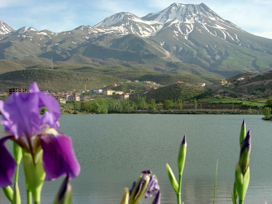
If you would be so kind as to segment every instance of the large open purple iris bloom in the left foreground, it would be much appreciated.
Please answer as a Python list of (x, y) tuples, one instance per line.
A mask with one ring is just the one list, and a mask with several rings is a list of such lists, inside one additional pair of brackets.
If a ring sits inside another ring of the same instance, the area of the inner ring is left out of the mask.
[[(40, 116), (40, 108), (43, 107), (47, 107), (49, 112)], [(57, 132), (60, 126), (60, 106), (53, 96), (40, 92), (37, 84), (33, 83), (29, 93), (16, 92), (5, 102), (0, 101), (0, 111), (1, 124), (7, 133), (0, 138), (0, 187), (11, 185), (16, 167), (5, 147), (7, 139), (15, 141), (23, 151), (30, 152), (33, 158), (40, 147), (43, 149), (45, 180), (54, 180), (63, 174), (72, 178), (79, 175), (80, 166), (71, 139)], [(46, 131), (49, 128), (54, 131)]]

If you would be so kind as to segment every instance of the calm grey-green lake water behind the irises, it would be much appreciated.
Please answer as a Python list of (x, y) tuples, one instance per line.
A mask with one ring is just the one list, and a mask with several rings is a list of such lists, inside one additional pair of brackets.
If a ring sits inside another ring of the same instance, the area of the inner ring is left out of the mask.
[[(245, 203), (272, 203), (272, 121), (261, 115), (62, 115), (60, 131), (71, 136), (81, 165), (72, 181), (73, 203), (120, 203), (141, 170), (157, 175), (162, 203), (176, 203), (165, 164), (176, 176), (183, 134), (187, 154), (182, 181), (184, 203), (212, 203), (216, 160), (219, 158), (216, 203), (232, 203), (230, 191), (239, 157), (243, 118), (252, 131), (250, 183)], [(8, 142), (7, 146), (11, 146)], [(45, 182), (42, 203), (52, 203), (62, 179)], [(24, 175), (20, 189), (25, 200)], [(151, 203), (143, 199), (141, 203)], [(0, 192), (0, 203), (9, 203)], [(23, 202), (25, 203), (25, 202)]]

